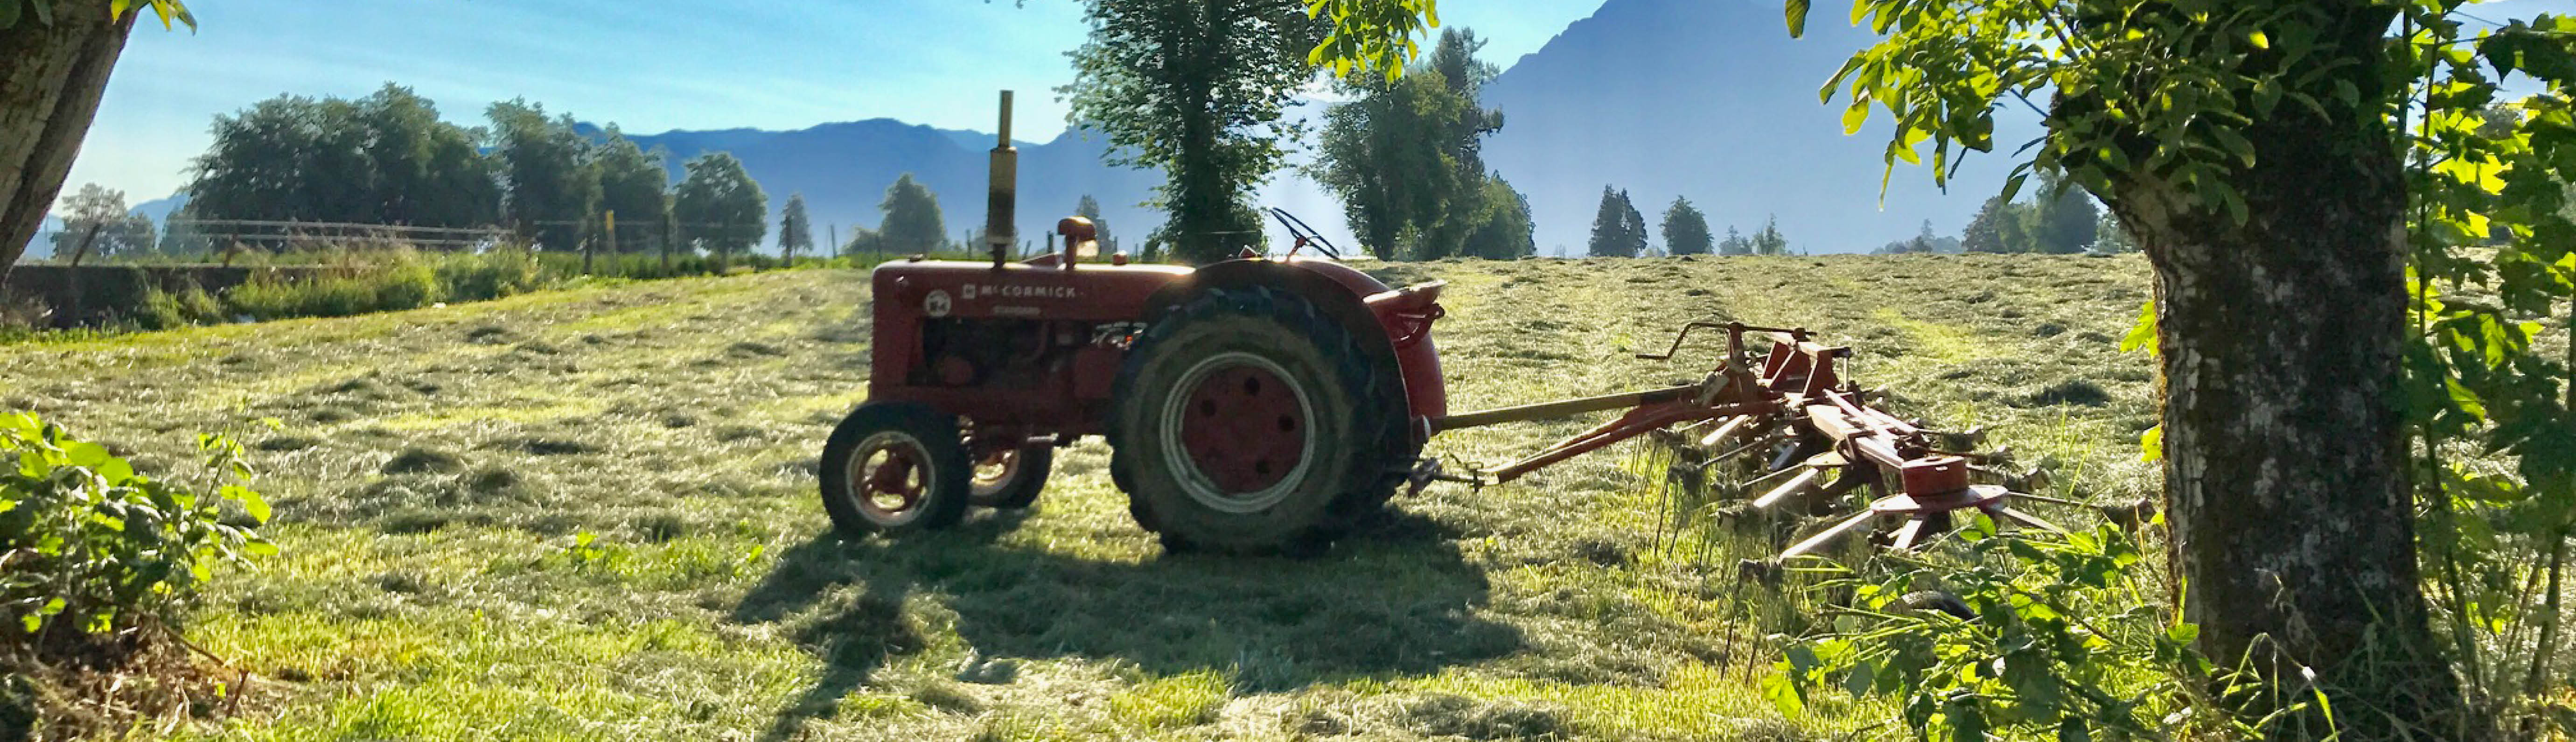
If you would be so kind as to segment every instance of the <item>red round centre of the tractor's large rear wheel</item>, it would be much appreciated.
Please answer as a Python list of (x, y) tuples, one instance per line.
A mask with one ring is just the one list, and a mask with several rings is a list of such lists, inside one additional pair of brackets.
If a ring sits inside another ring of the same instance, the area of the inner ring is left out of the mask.
[(1180, 443), (1221, 495), (1257, 495), (1306, 461), (1306, 399), (1270, 363), (1206, 368), (1180, 402)]

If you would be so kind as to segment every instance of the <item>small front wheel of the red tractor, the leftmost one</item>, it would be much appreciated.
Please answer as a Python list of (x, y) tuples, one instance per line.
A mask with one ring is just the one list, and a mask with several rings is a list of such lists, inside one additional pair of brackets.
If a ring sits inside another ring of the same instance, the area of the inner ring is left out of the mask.
[(958, 417), (927, 404), (858, 404), (822, 446), (822, 510), (848, 538), (956, 526), (971, 487)]

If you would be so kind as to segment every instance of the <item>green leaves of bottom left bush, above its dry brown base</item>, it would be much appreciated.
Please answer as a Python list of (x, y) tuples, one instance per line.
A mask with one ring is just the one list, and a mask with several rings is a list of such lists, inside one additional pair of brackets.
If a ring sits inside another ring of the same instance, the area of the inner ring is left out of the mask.
[[(10, 662), (77, 660), (90, 642), (167, 626), (214, 569), (273, 554), (250, 526), (268, 520), (242, 448), (204, 435), (211, 492), (142, 477), (106, 446), (36, 415), (0, 415), (0, 647)], [(227, 505), (237, 508), (227, 515)], [(247, 515), (245, 520), (229, 520)]]

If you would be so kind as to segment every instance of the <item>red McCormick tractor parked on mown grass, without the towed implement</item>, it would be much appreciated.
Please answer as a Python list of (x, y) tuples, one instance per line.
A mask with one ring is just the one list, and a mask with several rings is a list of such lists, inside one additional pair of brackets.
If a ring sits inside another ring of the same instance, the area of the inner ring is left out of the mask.
[[(1059, 232), (1077, 255), (1092, 240), (1079, 219)], [(1056, 446), (1108, 435), (1110, 477), (1164, 544), (1321, 541), (1386, 502), (1448, 412), (1440, 283), (1388, 289), (1329, 258), (902, 260), (873, 291), (868, 402), (822, 459), (842, 531), (1028, 508)]]

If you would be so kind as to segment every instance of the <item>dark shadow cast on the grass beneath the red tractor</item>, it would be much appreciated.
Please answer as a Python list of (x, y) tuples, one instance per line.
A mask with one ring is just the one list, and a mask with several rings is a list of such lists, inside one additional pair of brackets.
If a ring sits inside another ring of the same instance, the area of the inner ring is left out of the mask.
[(1440, 523), (1394, 513), (1324, 556), (1164, 554), (1092, 562), (997, 538), (1020, 515), (971, 518), (920, 538), (817, 536), (734, 608), (739, 623), (781, 623), (827, 662), (765, 739), (868, 685), (896, 657), (925, 649), (927, 595), (953, 613), (976, 657), (1126, 660), (1154, 675), (1231, 672), (1249, 693), (1363, 675), (1427, 675), (1520, 652), (1520, 629), (1476, 616), (1492, 593)]

